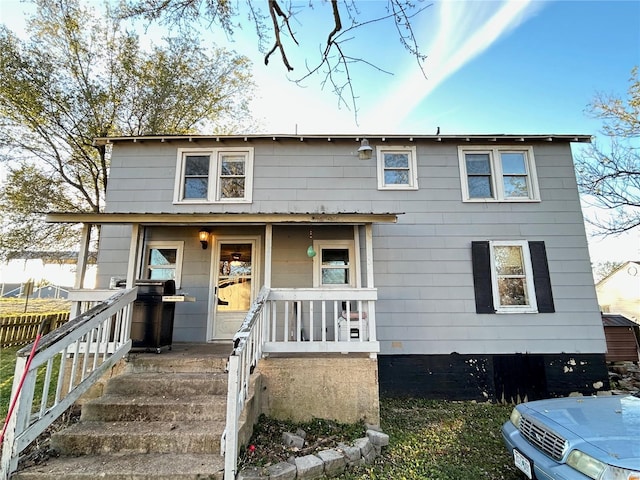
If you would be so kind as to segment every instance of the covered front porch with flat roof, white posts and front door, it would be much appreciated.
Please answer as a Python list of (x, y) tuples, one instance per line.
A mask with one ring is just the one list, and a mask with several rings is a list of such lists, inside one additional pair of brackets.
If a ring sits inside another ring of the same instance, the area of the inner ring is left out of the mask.
[[(166, 244), (168, 240), (184, 244), (179, 255), (182, 282), (177, 285), (176, 296), (182, 295), (193, 303), (178, 304), (174, 341), (233, 339), (243, 320), (257, 308), (258, 293), (266, 289), (268, 294), (260, 300), (264, 303), (260, 307), (264, 317), (263, 355), (353, 352), (372, 358), (379, 352), (373, 224), (395, 222), (396, 218), (395, 214), (47, 216), (50, 222), (83, 224), (74, 294), (82, 302), (74, 306), (73, 316), (113, 293), (107, 288), (109, 280), (113, 283), (114, 277), (109, 277), (113, 272), (107, 271), (101, 281), (99, 277), (98, 286), (102, 288), (83, 290), (82, 285), (92, 232), (117, 225), (130, 232), (129, 238), (120, 240), (122, 244), (128, 242), (128, 248), (121, 248), (118, 260), (122, 287), (132, 288), (138, 279), (153, 278), (147, 264), (149, 245)], [(203, 231), (208, 235), (207, 245), (200, 247), (203, 239), (199, 232)], [(220, 270), (228, 240), (236, 245), (251, 243), (250, 258), (243, 258), (249, 262), (244, 265), (248, 265), (245, 270), (251, 272), (251, 278), (243, 279), (247, 290), (243, 306), (225, 310), (219, 305), (229, 302), (223, 293), (229, 277), (222, 278)], [(232, 289), (226, 291), (229, 290)]]

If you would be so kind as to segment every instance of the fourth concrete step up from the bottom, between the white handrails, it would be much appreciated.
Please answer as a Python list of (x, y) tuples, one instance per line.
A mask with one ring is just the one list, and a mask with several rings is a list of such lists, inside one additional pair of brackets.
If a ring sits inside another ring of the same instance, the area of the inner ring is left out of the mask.
[(109, 380), (105, 394), (191, 398), (196, 395), (226, 395), (227, 374), (123, 373)]

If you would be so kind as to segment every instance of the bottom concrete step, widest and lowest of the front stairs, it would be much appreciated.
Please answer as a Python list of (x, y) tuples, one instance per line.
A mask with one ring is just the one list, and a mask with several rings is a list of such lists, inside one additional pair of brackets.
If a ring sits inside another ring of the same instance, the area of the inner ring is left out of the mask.
[(202, 454), (59, 457), (29, 467), (12, 480), (222, 480), (224, 458)]

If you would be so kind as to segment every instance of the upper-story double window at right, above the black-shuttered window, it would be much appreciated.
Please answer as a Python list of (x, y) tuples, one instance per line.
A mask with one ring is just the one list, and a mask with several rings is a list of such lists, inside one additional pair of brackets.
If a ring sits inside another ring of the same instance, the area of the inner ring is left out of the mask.
[(459, 147), (458, 157), (464, 201), (540, 200), (531, 147)]

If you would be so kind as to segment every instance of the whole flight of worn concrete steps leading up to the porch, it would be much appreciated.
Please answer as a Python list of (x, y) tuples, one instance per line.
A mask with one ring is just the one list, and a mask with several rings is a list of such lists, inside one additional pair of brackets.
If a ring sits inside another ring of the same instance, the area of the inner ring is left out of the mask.
[(60, 456), (12, 480), (222, 480), (230, 351), (183, 344), (131, 352), (102, 397), (83, 404), (80, 423), (52, 435)]

